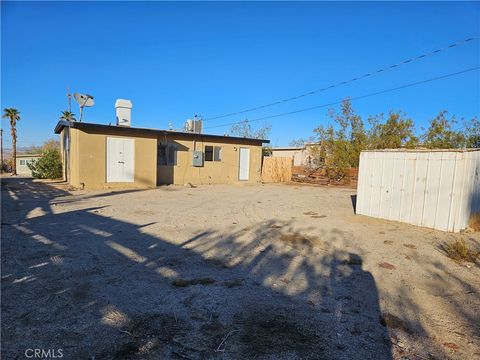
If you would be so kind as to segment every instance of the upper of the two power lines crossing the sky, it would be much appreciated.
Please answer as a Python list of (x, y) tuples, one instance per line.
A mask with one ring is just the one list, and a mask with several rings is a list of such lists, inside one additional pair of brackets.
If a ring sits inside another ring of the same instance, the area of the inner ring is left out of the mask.
[(459, 45), (463, 45), (465, 43), (468, 43), (470, 41), (477, 40), (477, 39), (478, 39), (477, 37), (470, 37), (470, 38), (467, 38), (467, 39), (463, 39), (463, 40), (457, 41), (453, 44), (450, 44), (448, 46), (445, 46), (443, 48), (439, 48), (439, 49), (429, 51), (429, 52), (426, 52), (426, 53), (418, 55), (418, 56), (414, 56), (410, 59), (406, 59), (406, 60), (403, 60), (403, 61), (398, 62), (396, 64), (393, 64), (393, 65), (390, 65), (390, 66), (387, 66), (387, 67), (384, 67), (384, 68), (381, 68), (381, 69), (378, 69), (378, 70), (375, 70), (375, 71), (371, 71), (371, 72), (363, 74), (361, 76), (354, 77), (350, 80), (341, 81), (341, 82), (332, 84), (330, 86), (323, 87), (321, 89), (312, 90), (312, 91), (309, 91), (309, 92), (306, 92), (306, 93), (303, 93), (303, 94), (300, 94), (300, 95), (297, 95), (297, 96), (293, 96), (293, 97), (285, 98), (285, 99), (282, 99), (282, 100), (274, 101), (274, 102), (271, 102), (271, 103), (268, 103), (268, 104), (265, 104), (265, 105), (255, 106), (255, 107), (251, 107), (251, 108), (240, 110), (240, 111), (235, 111), (235, 112), (224, 114), (224, 115), (213, 116), (213, 117), (204, 119), (204, 121), (222, 119), (222, 118), (225, 118), (225, 117), (228, 117), (228, 116), (244, 114), (244, 113), (247, 113), (247, 112), (264, 109), (264, 108), (267, 108), (267, 107), (270, 107), (270, 106), (283, 104), (283, 103), (286, 103), (288, 101), (298, 100), (298, 99), (306, 97), (306, 96), (317, 94), (317, 93), (322, 92), (322, 91), (330, 90), (330, 89), (333, 89), (335, 87), (339, 87), (339, 86), (346, 85), (346, 84), (349, 84), (349, 83), (352, 83), (352, 82), (355, 82), (355, 81), (358, 81), (358, 80), (361, 80), (361, 79), (365, 79), (369, 76), (374, 76), (376, 74), (394, 69), (396, 67), (399, 67), (399, 66), (402, 66), (402, 65), (414, 62), (414, 61), (418, 61), (418, 60), (423, 59), (427, 56), (438, 54), (442, 51), (446, 51), (448, 49), (454, 48), (454, 47), (459, 46)]

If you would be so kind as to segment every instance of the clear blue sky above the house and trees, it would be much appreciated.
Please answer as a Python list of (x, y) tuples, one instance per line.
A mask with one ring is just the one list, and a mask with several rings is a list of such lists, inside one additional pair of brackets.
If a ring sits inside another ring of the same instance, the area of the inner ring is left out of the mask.
[[(1, 106), (21, 111), (19, 146), (41, 144), (67, 107), (66, 88), (95, 97), (87, 122), (168, 128), (350, 79), (480, 35), (480, 3), (4, 2)], [(205, 128), (355, 97), (479, 66), (480, 41), (298, 101), (207, 121)], [(417, 127), (440, 110), (479, 116), (480, 73), (353, 101), (368, 115), (403, 110)], [(72, 106), (78, 115), (76, 104)], [(278, 117), (273, 145), (328, 124), (328, 109)], [(263, 122), (252, 123), (261, 126)], [(5, 146), (10, 146), (7, 120)], [(229, 126), (206, 132), (223, 134)]]

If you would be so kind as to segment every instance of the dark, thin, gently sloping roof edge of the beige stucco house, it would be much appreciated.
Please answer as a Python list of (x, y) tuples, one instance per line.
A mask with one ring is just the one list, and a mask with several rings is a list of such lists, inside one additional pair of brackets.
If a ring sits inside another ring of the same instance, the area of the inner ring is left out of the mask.
[(270, 143), (270, 140), (265, 139), (252, 139), (244, 137), (235, 137), (235, 136), (224, 136), (224, 135), (211, 135), (211, 134), (194, 134), (182, 131), (172, 131), (172, 130), (160, 130), (160, 129), (149, 129), (149, 128), (139, 128), (139, 127), (127, 127), (127, 126), (115, 126), (115, 125), (103, 125), (103, 124), (93, 124), (93, 123), (84, 123), (84, 122), (69, 122), (66, 120), (60, 120), (55, 126), (55, 134), (60, 134), (64, 127), (71, 127), (79, 130), (90, 130), (90, 131), (115, 131), (124, 132), (125, 134), (152, 134), (152, 135), (182, 135), (186, 137), (193, 138), (206, 138), (212, 140), (239, 140), (239, 141), (251, 141), (253, 143), (262, 144)]

